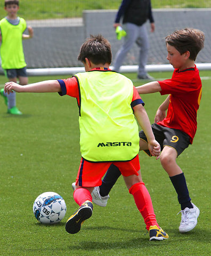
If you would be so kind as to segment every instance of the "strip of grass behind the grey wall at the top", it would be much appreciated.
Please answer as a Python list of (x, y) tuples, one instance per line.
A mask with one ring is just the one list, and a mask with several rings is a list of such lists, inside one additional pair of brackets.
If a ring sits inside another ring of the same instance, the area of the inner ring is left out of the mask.
[[(82, 17), (83, 10), (117, 10), (121, 0), (20, 0), (20, 17), (26, 20)], [(151, 0), (152, 8), (209, 8), (211, 0)], [(4, 1), (0, 17), (5, 17)]]

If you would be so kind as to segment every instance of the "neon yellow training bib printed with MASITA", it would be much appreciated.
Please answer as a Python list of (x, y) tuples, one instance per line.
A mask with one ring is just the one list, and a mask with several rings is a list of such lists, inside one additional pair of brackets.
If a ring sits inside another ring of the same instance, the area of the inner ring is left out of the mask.
[(114, 71), (75, 75), (80, 95), (80, 150), (90, 162), (130, 161), (139, 153), (133, 83)]

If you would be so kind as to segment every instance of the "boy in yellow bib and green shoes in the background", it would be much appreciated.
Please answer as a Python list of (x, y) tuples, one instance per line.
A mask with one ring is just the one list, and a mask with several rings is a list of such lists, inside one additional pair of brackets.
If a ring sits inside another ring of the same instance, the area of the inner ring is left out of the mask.
[[(33, 28), (27, 27), (25, 19), (17, 16), (19, 10), (18, 0), (5, 0), (4, 9), (7, 12), (7, 16), (0, 21), (2, 68), (10, 82), (16, 83), (18, 78), (20, 85), (26, 85), (28, 84), (28, 77), (22, 39), (32, 38), (34, 35)], [(26, 28), (28, 28), (29, 35), (23, 34)], [(22, 115), (16, 106), (15, 93), (7, 94), (4, 89), (1, 89), (0, 93), (7, 106), (7, 113)]]

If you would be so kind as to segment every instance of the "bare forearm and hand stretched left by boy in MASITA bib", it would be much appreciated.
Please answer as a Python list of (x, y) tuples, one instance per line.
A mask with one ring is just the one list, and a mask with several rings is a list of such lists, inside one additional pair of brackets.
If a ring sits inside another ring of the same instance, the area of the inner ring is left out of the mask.
[(57, 80), (47, 80), (28, 85), (19, 85), (14, 82), (7, 82), (4, 86), (4, 92), (61, 92), (61, 86)]

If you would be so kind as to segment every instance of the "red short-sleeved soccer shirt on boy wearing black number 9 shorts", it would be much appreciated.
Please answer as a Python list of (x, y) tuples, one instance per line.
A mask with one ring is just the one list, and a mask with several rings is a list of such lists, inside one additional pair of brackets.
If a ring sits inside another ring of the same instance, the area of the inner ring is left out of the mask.
[(190, 137), (192, 144), (197, 130), (197, 110), (201, 100), (201, 79), (198, 68), (174, 70), (172, 79), (159, 81), (161, 95), (170, 94), (166, 117), (159, 125), (178, 129)]

